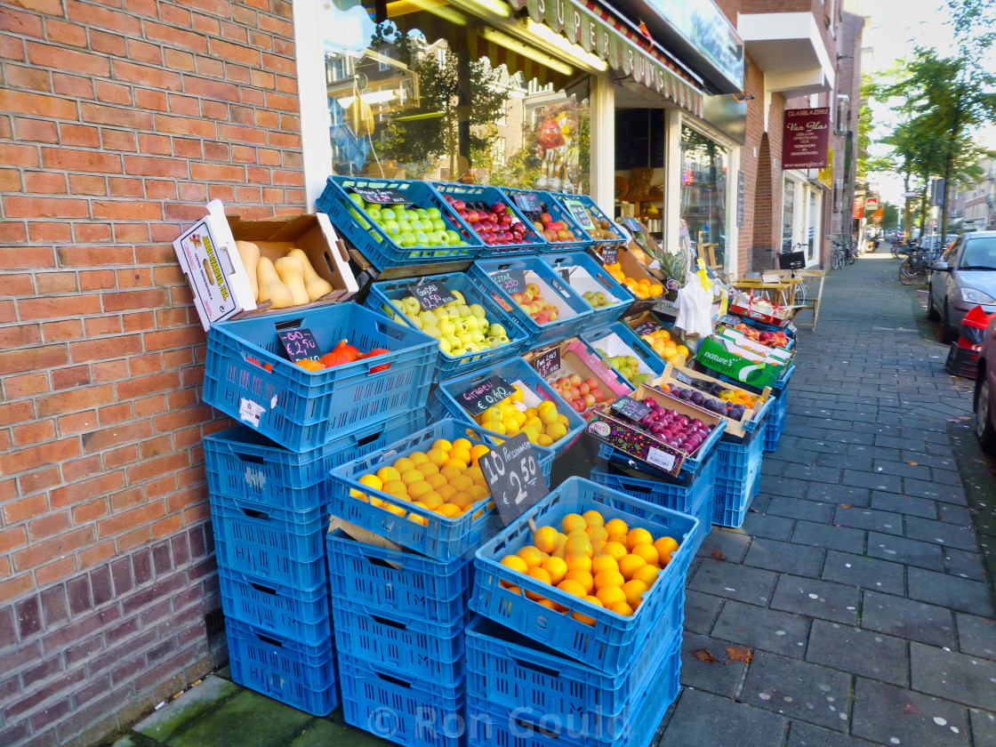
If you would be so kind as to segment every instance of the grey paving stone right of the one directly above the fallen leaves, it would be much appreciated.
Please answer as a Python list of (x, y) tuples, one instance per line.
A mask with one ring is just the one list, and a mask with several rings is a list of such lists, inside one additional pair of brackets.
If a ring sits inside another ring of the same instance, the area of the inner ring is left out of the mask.
[(806, 659), (906, 687), (909, 644), (902, 638), (838, 622), (813, 621)]

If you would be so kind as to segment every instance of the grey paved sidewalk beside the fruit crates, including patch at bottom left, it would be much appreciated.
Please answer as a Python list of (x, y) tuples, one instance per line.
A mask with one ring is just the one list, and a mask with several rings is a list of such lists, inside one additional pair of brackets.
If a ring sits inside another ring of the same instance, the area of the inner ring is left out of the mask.
[[(761, 494), (692, 564), (660, 747), (996, 745), (996, 489), (885, 249), (831, 273)], [(116, 747), (386, 744), (220, 674)]]

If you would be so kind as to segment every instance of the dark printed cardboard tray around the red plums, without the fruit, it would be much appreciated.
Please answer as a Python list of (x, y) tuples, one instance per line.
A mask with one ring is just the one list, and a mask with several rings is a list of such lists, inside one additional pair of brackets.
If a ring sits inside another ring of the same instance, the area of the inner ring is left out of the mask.
[(727, 419), (720, 417), (715, 412), (709, 412), (689, 402), (675, 399), (645, 384), (637, 386), (630, 396), (639, 400), (650, 397), (662, 407), (677, 410), (690, 418), (697, 417), (713, 428), (709, 437), (699, 444), (694, 452), (688, 454), (681, 449), (667, 445), (657, 436), (643, 430), (636, 423), (613, 409), (612, 405), (603, 403), (592, 409), (586, 430), (595, 438), (603, 443), (608, 443), (637, 461), (645, 462), (675, 477), (682, 469), (687, 472), (695, 472), (722, 436), (726, 427)]

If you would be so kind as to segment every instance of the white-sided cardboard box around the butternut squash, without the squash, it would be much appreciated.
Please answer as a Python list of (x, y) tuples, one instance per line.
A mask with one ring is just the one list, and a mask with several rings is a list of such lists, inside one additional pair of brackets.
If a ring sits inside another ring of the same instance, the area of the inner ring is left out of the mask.
[[(226, 216), (220, 200), (211, 200), (207, 211), (204, 218), (173, 241), (205, 330), (214, 322), (269, 308), (268, 304), (258, 305), (253, 298), (236, 241), (253, 242), (259, 246), (260, 256), (271, 261), (295, 247), (304, 251), (315, 272), (334, 289), (314, 304), (347, 301), (359, 290), (346, 246), (325, 213), (242, 220), (238, 215)], [(310, 306), (302, 304), (297, 308)]]

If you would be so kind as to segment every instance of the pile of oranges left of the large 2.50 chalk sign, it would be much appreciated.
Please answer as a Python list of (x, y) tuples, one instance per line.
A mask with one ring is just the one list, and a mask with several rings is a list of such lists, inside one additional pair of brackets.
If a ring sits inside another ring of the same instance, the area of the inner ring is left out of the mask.
[[(413, 451), (376, 472), (363, 475), (359, 482), (399, 502), (453, 519), (490, 497), (484, 474), (477, 464), (477, 460), (490, 450), (484, 444), (471, 443), (466, 438), (457, 438), (452, 443), (439, 438), (428, 451)], [(425, 517), (403, 506), (360, 490), (350, 492), (354, 498), (368, 501), (395, 516), (407, 516), (423, 526), (426, 523)], [(483, 510), (482, 507), (478, 514)]]

